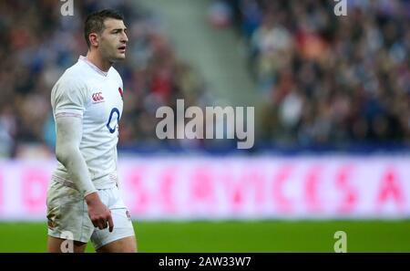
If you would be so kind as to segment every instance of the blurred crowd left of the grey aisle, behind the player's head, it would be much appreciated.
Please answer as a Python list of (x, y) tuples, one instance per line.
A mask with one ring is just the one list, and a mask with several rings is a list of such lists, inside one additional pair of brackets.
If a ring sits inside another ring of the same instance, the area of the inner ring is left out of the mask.
[[(181, 61), (161, 18), (136, 1), (0, 1), (0, 157), (49, 155), (56, 135), (50, 92), (64, 70), (87, 54), (83, 27), (88, 13), (115, 8), (128, 26), (128, 57), (116, 66), (124, 81), (119, 145), (159, 144), (156, 109), (206, 99), (200, 73)], [(166, 143), (172, 143), (168, 141)], [(178, 142), (177, 142), (178, 143)]]

